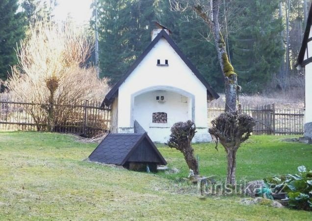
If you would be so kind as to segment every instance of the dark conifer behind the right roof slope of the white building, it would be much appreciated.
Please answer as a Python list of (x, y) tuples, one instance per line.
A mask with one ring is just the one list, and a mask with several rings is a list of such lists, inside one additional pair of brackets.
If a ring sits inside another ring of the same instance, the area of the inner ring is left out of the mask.
[(215, 47), (208, 37), (209, 29), (194, 16), (194, 13), (170, 10), (167, 0), (159, 2), (157, 20), (173, 32), (171, 38), (176, 42), (182, 52), (196, 66), (210, 85), (222, 91), (224, 83), (219, 73), (218, 57)]

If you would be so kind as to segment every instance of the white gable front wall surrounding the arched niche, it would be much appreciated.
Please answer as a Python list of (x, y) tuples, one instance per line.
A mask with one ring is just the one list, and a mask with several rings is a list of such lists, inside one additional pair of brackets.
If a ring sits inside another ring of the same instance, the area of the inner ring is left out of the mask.
[[(157, 66), (157, 59), (168, 66)], [(118, 91), (118, 128), (132, 128), (134, 118), (134, 99), (140, 91), (147, 88), (170, 87), (185, 91), (193, 96), (192, 116), (197, 128), (207, 132), (207, 88), (192, 73), (181, 57), (171, 48), (164, 39), (160, 39), (154, 48), (144, 57), (141, 63), (133, 70), (130, 76), (122, 83)], [(135, 96), (133, 96), (135, 95)], [(149, 105), (149, 104), (146, 104)], [(188, 120), (188, 119), (185, 119)], [(172, 126), (172, 125), (170, 125)], [(153, 139), (152, 139), (153, 140)], [(154, 141), (154, 140), (153, 140)], [(166, 141), (166, 140), (165, 140)]]

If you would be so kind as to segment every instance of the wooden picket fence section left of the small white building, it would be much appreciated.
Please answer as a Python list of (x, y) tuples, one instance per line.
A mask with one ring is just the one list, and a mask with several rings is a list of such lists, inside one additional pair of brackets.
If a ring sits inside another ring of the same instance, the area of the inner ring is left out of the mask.
[[(0, 97), (0, 131), (43, 131), (47, 129), (47, 104), (20, 102)], [(97, 101), (53, 105), (53, 131), (92, 137), (110, 128), (110, 109)]]

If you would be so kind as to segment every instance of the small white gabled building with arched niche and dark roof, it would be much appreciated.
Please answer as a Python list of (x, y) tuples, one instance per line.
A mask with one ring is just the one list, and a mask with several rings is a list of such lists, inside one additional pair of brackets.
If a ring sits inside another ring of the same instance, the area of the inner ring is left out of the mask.
[(174, 123), (192, 120), (197, 128), (193, 142), (201, 142), (211, 140), (207, 101), (217, 98), (163, 28), (154, 29), (150, 45), (102, 105), (112, 107), (112, 133), (135, 133), (143, 128), (154, 142), (163, 143)]

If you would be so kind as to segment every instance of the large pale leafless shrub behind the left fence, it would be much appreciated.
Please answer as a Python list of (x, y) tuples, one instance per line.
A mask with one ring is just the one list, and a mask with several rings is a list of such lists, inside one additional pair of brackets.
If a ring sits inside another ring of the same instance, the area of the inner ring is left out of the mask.
[(102, 100), (108, 91), (107, 79), (99, 80), (94, 67), (84, 67), (92, 42), (71, 25), (46, 21), (31, 26), (26, 40), (20, 42), (19, 62), (6, 86), (18, 99), (41, 104), (27, 110), (38, 130), (46, 124), (52, 131), (73, 114), (71, 104)]

